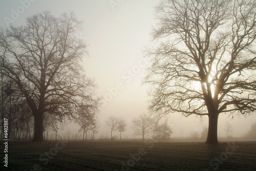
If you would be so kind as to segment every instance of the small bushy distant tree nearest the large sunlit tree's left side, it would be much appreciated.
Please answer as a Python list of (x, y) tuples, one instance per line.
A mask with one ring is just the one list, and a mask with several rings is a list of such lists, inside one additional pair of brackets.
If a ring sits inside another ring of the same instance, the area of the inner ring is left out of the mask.
[(165, 121), (161, 125), (157, 125), (154, 129), (154, 135), (152, 136), (154, 139), (159, 140), (167, 140), (170, 139), (170, 135), (173, 133), (172, 129), (168, 125), (167, 121)]

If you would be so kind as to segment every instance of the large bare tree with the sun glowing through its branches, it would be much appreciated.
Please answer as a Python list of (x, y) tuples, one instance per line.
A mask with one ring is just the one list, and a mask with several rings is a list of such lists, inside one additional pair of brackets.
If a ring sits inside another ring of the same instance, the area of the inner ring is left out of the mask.
[(149, 47), (150, 109), (209, 118), (206, 143), (218, 143), (221, 113), (256, 109), (255, 1), (162, 1)]

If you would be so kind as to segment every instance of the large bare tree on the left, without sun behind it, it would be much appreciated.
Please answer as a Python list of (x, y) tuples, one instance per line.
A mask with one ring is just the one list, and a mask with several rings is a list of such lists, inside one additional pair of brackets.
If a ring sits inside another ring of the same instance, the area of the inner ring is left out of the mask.
[(0, 33), (2, 74), (14, 80), (34, 116), (34, 141), (43, 140), (44, 113), (60, 121), (75, 117), (80, 104), (95, 103), (94, 81), (83, 73), (86, 44), (75, 36), (82, 23), (71, 12), (49, 11), (26, 20), (25, 26)]

